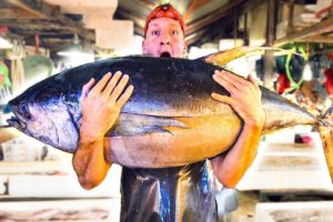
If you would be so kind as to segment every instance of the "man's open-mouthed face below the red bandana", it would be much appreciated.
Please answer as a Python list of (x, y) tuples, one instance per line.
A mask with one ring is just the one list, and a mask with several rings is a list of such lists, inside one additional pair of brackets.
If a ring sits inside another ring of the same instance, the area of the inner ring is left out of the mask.
[(142, 51), (152, 57), (183, 57), (186, 42), (180, 23), (170, 18), (151, 20), (142, 43)]

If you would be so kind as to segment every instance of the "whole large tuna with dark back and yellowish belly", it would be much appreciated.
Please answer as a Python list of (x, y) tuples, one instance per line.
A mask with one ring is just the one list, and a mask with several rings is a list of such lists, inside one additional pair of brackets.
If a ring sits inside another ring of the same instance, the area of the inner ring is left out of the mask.
[[(229, 94), (213, 81), (214, 70), (222, 69), (213, 63), (224, 64), (243, 53), (245, 49), (238, 49), (198, 60), (123, 57), (77, 67), (11, 100), (16, 117), (8, 122), (44, 143), (74, 152), (82, 85), (92, 77), (100, 80), (104, 73), (120, 70), (130, 75), (134, 92), (105, 137), (109, 161), (163, 168), (212, 158), (228, 150), (242, 129), (242, 120), (231, 107), (211, 98), (212, 92)], [(319, 125), (332, 176), (331, 113), (320, 119), (265, 88), (261, 90), (266, 114), (263, 133), (295, 124)]]

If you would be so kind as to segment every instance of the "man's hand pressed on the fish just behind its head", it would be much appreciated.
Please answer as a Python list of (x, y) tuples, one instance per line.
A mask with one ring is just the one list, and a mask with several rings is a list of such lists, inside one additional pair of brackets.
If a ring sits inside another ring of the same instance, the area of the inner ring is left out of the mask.
[(113, 127), (121, 108), (133, 92), (133, 85), (129, 85), (123, 92), (128, 81), (129, 75), (122, 75), (118, 71), (113, 75), (110, 72), (107, 73), (93, 88), (94, 79), (83, 85), (80, 101), (82, 110), (81, 143), (103, 139), (104, 134)]

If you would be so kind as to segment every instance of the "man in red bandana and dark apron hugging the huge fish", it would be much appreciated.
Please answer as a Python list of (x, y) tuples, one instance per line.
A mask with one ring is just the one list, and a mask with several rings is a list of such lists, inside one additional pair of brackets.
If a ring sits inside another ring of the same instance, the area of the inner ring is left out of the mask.
[[(186, 51), (184, 22), (170, 4), (153, 10), (147, 19), (144, 33), (144, 54), (176, 58), (183, 57)], [(98, 185), (112, 164), (104, 160), (103, 137), (133, 91), (131, 85), (125, 89), (128, 79), (120, 72), (108, 73), (94, 87), (94, 80), (83, 87), (82, 123), (73, 167), (85, 189)], [(212, 98), (230, 104), (244, 121), (233, 148), (211, 160), (218, 180), (224, 186), (233, 188), (256, 153), (265, 118), (261, 92), (251, 77), (246, 81), (229, 72), (215, 71), (213, 79), (231, 97), (212, 93)], [(216, 203), (206, 161), (168, 169), (123, 168), (121, 221), (216, 220)]]

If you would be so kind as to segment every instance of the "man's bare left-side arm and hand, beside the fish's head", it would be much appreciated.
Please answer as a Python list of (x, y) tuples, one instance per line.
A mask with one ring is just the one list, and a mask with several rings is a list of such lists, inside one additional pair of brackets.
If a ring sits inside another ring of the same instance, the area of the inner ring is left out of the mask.
[(80, 140), (72, 164), (79, 182), (84, 189), (99, 185), (112, 163), (104, 158), (104, 134), (115, 123), (121, 108), (133, 92), (130, 85), (123, 92), (129, 77), (115, 72), (107, 73), (93, 88), (91, 79), (82, 89)]

